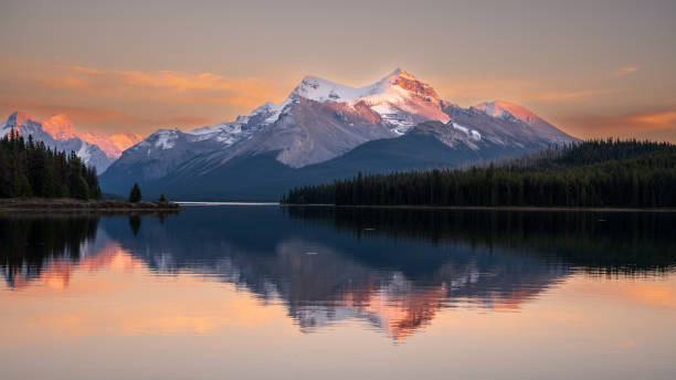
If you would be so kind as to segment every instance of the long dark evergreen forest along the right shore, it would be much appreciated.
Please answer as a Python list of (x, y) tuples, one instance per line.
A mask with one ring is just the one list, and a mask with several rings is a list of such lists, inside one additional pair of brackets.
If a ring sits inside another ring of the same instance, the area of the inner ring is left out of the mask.
[(504, 162), (359, 176), (293, 189), (283, 203), (675, 207), (676, 146), (588, 140)]

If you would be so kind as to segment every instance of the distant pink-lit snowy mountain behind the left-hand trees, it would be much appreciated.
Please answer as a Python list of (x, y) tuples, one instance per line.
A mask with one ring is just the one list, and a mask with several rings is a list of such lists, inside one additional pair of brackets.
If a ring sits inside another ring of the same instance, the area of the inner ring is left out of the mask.
[(140, 135), (134, 133), (78, 133), (64, 114), (53, 115), (41, 122), (15, 112), (0, 125), (0, 136), (7, 136), (12, 129), (17, 129), (24, 138), (33, 136), (35, 141), (43, 141), (52, 149), (75, 151), (85, 163), (96, 167), (98, 172), (105, 171), (125, 149), (142, 140)]

